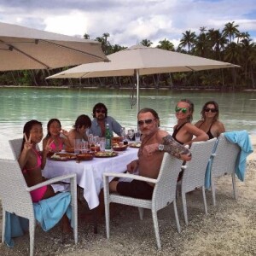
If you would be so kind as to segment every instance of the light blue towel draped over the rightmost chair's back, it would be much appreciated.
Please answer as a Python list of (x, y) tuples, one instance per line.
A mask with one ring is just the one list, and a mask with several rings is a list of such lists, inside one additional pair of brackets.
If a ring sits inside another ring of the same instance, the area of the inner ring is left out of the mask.
[(236, 175), (241, 180), (244, 181), (247, 156), (253, 153), (253, 145), (251, 143), (250, 137), (247, 131), (228, 131), (224, 132), (224, 137), (230, 143), (236, 143), (240, 148), (241, 152), (236, 160)]

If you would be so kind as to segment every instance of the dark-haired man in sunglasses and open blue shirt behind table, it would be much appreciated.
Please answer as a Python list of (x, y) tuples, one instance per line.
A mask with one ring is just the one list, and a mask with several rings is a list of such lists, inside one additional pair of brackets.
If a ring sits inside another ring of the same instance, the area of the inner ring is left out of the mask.
[(113, 117), (108, 116), (108, 108), (101, 102), (96, 103), (92, 110), (93, 120), (90, 126), (90, 133), (94, 136), (105, 137), (106, 125), (109, 125), (109, 131), (111, 134), (115, 132), (118, 136), (121, 136), (122, 126)]

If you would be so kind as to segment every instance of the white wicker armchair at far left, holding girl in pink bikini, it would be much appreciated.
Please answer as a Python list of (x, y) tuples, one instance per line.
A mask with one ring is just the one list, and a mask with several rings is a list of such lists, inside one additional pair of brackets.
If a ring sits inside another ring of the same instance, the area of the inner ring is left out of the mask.
[(5, 213), (15, 213), (16, 215), (27, 218), (29, 220), (29, 235), (30, 235), (30, 255), (33, 255), (34, 250), (34, 235), (35, 235), (35, 216), (32, 204), (30, 191), (56, 183), (62, 180), (70, 180), (70, 188), (72, 195), (72, 212), (73, 212), (73, 236), (75, 243), (78, 242), (78, 207), (77, 207), (77, 181), (76, 174), (63, 175), (55, 177), (39, 183), (32, 187), (27, 187), (25, 178), (20, 170), (17, 160), (0, 159), (0, 198), (3, 207), (3, 230), (2, 242), (5, 235)]

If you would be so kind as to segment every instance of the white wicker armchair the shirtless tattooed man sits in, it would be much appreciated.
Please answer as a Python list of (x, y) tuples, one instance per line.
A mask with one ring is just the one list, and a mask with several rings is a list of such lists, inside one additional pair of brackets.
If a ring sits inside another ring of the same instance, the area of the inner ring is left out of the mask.
[[(104, 202), (105, 202), (105, 217), (107, 238), (109, 238), (109, 203), (119, 203), (133, 207), (139, 207), (139, 216), (143, 219), (143, 208), (151, 209), (154, 222), (154, 233), (157, 241), (157, 247), (160, 249), (160, 234), (157, 219), (157, 212), (173, 202), (174, 213), (177, 223), (177, 231), (180, 232), (180, 225), (177, 215), (176, 205), (176, 185), (177, 175), (182, 166), (182, 160), (178, 160), (165, 153), (160, 166), (160, 173), (157, 179), (132, 175), (127, 173), (104, 173)], [(152, 200), (143, 200), (128, 196), (109, 194), (108, 177), (131, 177), (132, 179), (142, 180), (150, 183), (155, 183)]]

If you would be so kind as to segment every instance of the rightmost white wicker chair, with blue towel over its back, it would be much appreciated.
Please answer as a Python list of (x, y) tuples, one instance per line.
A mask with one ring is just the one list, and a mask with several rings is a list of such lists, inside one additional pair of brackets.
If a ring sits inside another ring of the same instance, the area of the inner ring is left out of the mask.
[(225, 174), (230, 174), (232, 177), (233, 183), (233, 194), (234, 198), (237, 198), (236, 195), (236, 159), (238, 154), (240, 154), (240, 148), (235, 143), (230, 143), (222, 133), (218, 137), (218, 144), (214, 154), (212, 154), (212, 168), (211, 168), (211, 189), (212, 189), (212, 203), (213, 206), (216, 206), (216, 197), (215, 197), (215, 185), (214, 177), (224, 176)]

